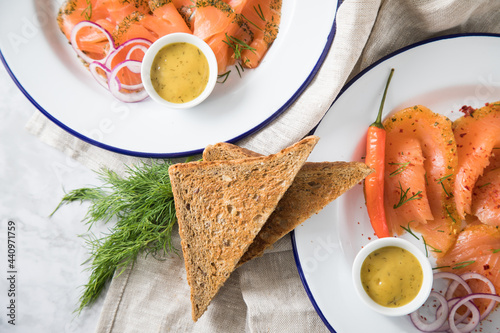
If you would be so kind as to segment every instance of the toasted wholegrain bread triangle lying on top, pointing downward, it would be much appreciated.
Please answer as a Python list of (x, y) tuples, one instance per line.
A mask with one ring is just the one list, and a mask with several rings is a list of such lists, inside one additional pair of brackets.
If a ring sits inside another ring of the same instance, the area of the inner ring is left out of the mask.
[(196, 321), (290, 187), (318, 137), (281, 152), (169, 169)]

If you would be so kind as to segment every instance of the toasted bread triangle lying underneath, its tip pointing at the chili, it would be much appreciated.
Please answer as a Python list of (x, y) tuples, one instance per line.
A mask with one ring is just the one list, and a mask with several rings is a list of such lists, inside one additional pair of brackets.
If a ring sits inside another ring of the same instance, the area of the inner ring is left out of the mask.
[[(203, 152), (203, 160), (206, 161), (255, 156), (262, 155), (229, 143), (208, 146)], [(262, 256), (276, 241), (372, 172), (371, 168), (360, 162), (306, 162), (238, 266)]]

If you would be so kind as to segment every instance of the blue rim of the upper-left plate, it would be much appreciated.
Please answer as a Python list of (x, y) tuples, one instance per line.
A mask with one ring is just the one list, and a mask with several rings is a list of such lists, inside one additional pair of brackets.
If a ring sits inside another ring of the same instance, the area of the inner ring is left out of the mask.
[[(328, 38), (325, 44), (325, 47), (323, 48), (323, 51), (321, 52), (320, 57), (316, 61), (316, 64), (314, 65), (311, 73), (308, 75), (306, 80), (299, 86), (297, 91), (287, 100), (285, 103), (274, 113), (272, 113), (267, 119), (265, 119), (263, 122), (258, 124), (257, 126), (249, 129), (246, 132), (243, 132), (242, 134), (227, 140), (229, 143), (236, 143), (237, 141), (254, 134), (267, 126), (269, 123), (271, 123), (273, 120), (275, 120), (279, 115), (281, 115), (285, 110), (287, 110), (298, 98), (299, 96), (305, 91), (305, 89), (309, 86), (311, 81), (314, 79), (316, 74), (318, 73), (319, 69), (321, 68), (321, 65), (325, 61), (325, 58), (328, 54), (328, 51), (330, 50), (330, 47), (333, 43), (335, 33), (337, 30), (337, 12), (342, 4), (343, 0), (339, 0), (337, 2), (337, 8), (335, 9), (335, 15), (334, 19), (332, 22), (332, 28), (330, 30), (330, 33), (328, 34)], [(123, 154), (123, 155), (129, 155), (129, 156), (135, 156), (135, 157), (142, 157), (142, 158), (162, 158), (162, 159), (171, 159), (171, 158), (179, 158), (179, 157), (188, 157), (188, 156), (193, 156), (193, 155), (198, 155), (201, 154), (204, 150), (204, 147), (199, 148), (199, 149), (194, 149), (194, 150), (188, 150), (188, 151), (182, 151), (182, 152), (173, 152), (173, 153), (149, 153), (149, 152), (141, 152), (141, 151), (135, 151), (135, 150), (129, 150), (129, 149), (123, 149), (123, 148), (117, 148), (112, 145), (107, 145), (102, 142), (99, 142), (97, 140), (94, 140), (92, 138), (89, 138), (73, 129), (71, 129), (69, 126), (65, 125), (58, 119), (56, 119), (54, 116), (52, 116), (47, 110), (45, 110), (30, 94), (29, 92), (24, 89), (22, 84), (19, 82), (19, 80), (16, 78), (14, 72), (8, 65), (7, 61), (5, 60), (5, 57), (2, 53), (2, 50), (0, 49), (0, 61), (4, 65), (5, 69), (7, 70), (9, 76), (11, 79), (14, 81), (16, 86), (21, 90), (21, 92), (26, 96), (26, 98), (42, 113), (44, 114), (48, 119), (50, 119), (53, 123), (55, 123), (57, 126), (65, 130), (66, 132), (70, 133), (71, 135), (77, 137), (78, 139), (87, 142), (91, 145), (94, 145), (96, 147), (118, 153), (118, 154)]]

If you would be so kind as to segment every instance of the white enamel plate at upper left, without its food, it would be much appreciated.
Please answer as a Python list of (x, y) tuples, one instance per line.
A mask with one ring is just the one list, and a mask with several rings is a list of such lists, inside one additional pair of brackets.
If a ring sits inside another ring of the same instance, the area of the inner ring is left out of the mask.
[(0, 58), (23, 93), (56, 124), (97, 146), (147, 157), (199, 153), (275, 119), (318, 71), (334, 37), (337, 11), (337, 1), (312, 6), (284, 0), (278, 38), (261, 65), (241, 78), (233, 68), (206, 101), (179, 110), (151, 99), (122, 103), (99, 86), (59, 31), (62, 2), (0, 2)]

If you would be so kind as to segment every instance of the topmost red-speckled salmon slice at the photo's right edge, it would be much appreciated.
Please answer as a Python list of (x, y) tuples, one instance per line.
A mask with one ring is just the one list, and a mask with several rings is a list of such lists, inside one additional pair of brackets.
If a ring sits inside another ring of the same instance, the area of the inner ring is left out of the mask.
[(490, 163), (493, 149), (500, 147), (500, 102), (487, 104), (455, 120), (453, 131), (458, 149), (455, 202), (459, 216), (471, 214), (472, 192)]

